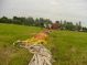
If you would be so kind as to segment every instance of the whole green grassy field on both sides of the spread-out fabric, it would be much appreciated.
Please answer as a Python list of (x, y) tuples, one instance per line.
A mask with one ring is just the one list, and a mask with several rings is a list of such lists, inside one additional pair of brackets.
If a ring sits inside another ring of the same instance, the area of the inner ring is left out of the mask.
[[(25, 48), (14, 47), (12, 43), (29, 39), (41, 30), (35, 26), (0, 24), (0, 65), (28, 65), (32, 54)], [(46, 47), (55, 59), (53, 65), (87, 65), (87, 33), (53, 31)]]

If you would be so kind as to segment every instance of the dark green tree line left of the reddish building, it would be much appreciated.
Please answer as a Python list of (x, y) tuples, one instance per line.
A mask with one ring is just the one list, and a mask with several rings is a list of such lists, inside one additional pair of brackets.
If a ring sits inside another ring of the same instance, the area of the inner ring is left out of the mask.
[(44, 23), (52, 23), (50, 19), (36, 18), (32, 17), (13, 17), (12, 19), (8, 19), (7, 17), (0, 18), (0, 23), (10, 23), (10, 24), (20, 24), (20, 25), (29, 25), (29, 26), (42, 26)]

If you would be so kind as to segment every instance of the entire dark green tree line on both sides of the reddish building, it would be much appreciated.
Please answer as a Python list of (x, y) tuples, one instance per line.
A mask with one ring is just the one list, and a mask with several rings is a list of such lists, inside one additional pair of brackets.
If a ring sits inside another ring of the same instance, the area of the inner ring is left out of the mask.
[[(48, 24), (54, 24), (50, 19), (43, 19), (43, 18), (36, 18), (33, 19), (32, 17), (25, 18), (25, 17), (13, 17), (12, 19), (9, 19), (7, 17), (0, 18), (0, 23), (9, 23), (9, 24), (20, 24), (20, 25), (29, 25), (29, 26), (41, 26), (44, 28)], [(55, 24), (58, 26), (59, 30), (69, 30), (69, 31), (84, 31), (87, 32), (86, 26), (81, 26), (81, 22), (74, 24), (73, 22), (68, 21), (55, 21)]]

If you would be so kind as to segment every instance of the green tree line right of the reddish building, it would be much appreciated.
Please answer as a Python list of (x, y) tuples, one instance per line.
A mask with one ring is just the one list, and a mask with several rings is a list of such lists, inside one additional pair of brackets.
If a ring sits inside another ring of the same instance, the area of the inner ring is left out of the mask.
[(69, 31), (79, 31), (79, 32), (87, 32), (87, 28), (81, 25), (81, 22), (77, 22), (76, 24), (68, 21), (56, 21), (55, 23), (59, 24), (61, 30), (69, 30)]

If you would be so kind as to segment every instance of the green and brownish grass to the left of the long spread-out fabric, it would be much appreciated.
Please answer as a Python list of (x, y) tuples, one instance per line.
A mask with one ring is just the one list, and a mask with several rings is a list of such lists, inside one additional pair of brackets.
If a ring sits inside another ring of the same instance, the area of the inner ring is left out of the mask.
[(41, 28), (0, 24), (0, 65), (28, 65), (32, 57), (28, 50), (18, 48), (12, 45), (17, 40), (26, 40)]

